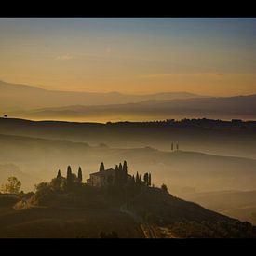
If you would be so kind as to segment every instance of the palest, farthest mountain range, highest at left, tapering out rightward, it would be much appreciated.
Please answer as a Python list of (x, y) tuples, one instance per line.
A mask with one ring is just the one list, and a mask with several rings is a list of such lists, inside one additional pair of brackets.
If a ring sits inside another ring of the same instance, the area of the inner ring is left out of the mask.
[(68, 105), (107, 105), (148, 100), (188, 99), (199, 96), (188, 92), (163, 92), (148, 95), (131, 95), (118, 92), (92, 93), (47, 90), (26, 85), (10, 84), (0, 81), (1, 112), (29, 110)]

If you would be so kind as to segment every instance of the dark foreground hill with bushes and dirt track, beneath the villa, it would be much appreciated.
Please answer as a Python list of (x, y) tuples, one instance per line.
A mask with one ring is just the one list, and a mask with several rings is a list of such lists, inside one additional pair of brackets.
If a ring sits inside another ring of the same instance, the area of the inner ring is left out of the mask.
[[(141, 181), (137, 175), (133, 182), (126, 176), (121, 185), (124, 168), (115, 168), (119, 182), (112, 185), (84, 183), (68, 168), (66, 178), (58, 173), (51, 182), (38, 184), (35, 194), (0, 195), (0, 237), (99, 237), (111, 231), (133, 238), (256, 237), (249, 222), (152, 187), (145, 176)], [(182, 230), (184, 225), (190, 226), (189, 232)]]

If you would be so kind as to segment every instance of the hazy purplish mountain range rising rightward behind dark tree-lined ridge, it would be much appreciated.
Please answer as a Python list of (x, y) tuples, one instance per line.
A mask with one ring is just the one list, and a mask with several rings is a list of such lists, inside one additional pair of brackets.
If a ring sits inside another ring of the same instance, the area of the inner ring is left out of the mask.
[[(141, 116), (148, 119), (208, 117), (208, 118), (256, 118), (256, 95), (222, 97), (222, 98), (190, 98), (176, 100), (149, 100), (126, 104), (110, 105), (71, 105), (56, 108), (36, 109), (28, 112), (10, 113), (12, 116), (39, 119), (72, 119), (108, 117), (117, 121)], [(115, 117), (117, 116), (117, 117)], [(120, 117), (118, 117), (120, 116)], [(131, 116), (131, 117), (130, 117)], [(117, 119), (116, 119), (117, 118)], [(86, 119), (88, 120), (88, 119)], [(137, 119), (135, 119), (137, 120)]]

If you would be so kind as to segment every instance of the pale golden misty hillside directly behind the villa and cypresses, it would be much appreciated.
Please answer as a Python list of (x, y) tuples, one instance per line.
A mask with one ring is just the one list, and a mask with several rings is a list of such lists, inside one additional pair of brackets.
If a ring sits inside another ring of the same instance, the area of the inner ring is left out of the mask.
[(67, 165), (74, 169), (81, 165), (87, 176), (98, 170), (98, 163), (102, 160), (106, 166), (113, 166), (120, 159), (126, 159), (131, 173), (146, 169), (153, 173), (156, 184), (165, 180), (175, 192), (177, 187), (206, 191), (209, 188), (253, 189), (256, 185), (256, 160), (249, 158), (165, 152), (150, 147), (92, 147), (81, 142), (10, 135), (0, 135), (0, 143), (1, 163), (13, 163), (41, 181), (52, 177), (59, 168), (65, 171)]

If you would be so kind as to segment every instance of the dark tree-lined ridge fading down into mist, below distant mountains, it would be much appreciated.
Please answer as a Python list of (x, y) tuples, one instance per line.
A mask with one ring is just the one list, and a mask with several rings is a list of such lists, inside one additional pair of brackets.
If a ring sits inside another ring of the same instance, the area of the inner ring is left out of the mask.
[(112, 148), (151, 146), (256, 159), (256, 123), (211, 119), (175, 122), (78, 123), (0, 118), (0, 134), (106, 144)]

